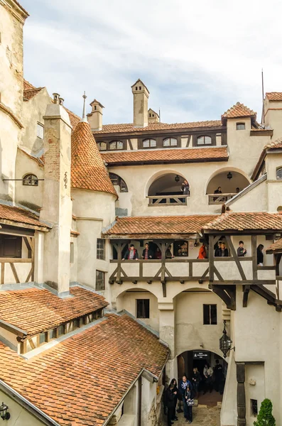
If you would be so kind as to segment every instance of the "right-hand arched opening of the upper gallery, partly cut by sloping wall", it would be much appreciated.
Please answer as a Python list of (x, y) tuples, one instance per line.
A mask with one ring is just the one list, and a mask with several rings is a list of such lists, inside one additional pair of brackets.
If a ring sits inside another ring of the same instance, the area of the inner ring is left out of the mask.
[(207, 184), (209, 204), (223, 204), (249, 185), (249, 180), (237, 170), (224, 169), (212, 176)]

